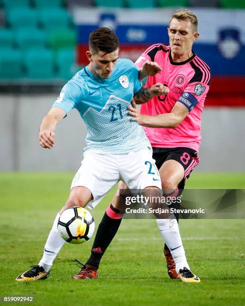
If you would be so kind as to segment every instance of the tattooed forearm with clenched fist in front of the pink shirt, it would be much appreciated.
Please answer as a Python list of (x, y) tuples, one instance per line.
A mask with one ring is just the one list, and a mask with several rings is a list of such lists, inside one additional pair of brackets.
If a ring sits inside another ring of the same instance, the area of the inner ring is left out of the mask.
[(156, 83), (151, 87), (142, 86), (140, 90), (133, 96), (136, 104), (143, 104), (155, 95), (167, 94), (169, 89), (162, 83)]

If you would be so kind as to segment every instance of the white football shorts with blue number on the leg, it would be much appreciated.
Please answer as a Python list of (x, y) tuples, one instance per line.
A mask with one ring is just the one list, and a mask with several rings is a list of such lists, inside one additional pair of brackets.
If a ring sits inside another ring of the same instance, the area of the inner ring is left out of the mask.
[(119, 180), (129, 189), (144, 189), (148, 186), (161, 189), (160, 175), (152, 152), (148, 148), (122, 155), (87, 151), (70, 189), (75, 186), (88, 188), (93, 199), (86, 206), (93, 209)]

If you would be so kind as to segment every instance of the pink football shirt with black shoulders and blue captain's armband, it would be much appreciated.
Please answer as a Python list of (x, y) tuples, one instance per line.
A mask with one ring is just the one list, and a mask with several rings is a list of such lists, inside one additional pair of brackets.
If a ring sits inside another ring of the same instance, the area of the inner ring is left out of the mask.
[(153, 44), (136, 60), (141, 68), (146, 60), (156, 61), (162, 70), (148, 76), (146, 87), (160, 82), (167, 85), (169, 93), (155, 96), (141, 105), (140, 113), (157, 115), (171, 112), (176, 101), (185, 105), (189, 113), (175, 128), (143, 126), (146, 136), (154, 147), (189, 147), (198, 152), (200, 145), (200, 123), (204, 100), (209, 89), (210, 68), (196, 54), (182, 62), (173, 62), (170, 46)]

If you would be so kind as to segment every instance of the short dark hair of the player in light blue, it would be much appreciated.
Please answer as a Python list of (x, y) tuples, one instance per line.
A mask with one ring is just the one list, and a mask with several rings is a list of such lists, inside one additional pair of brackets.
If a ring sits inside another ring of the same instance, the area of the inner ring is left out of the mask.
[(118, 38), (111, 27), (99, 27), (92, 31), (88, 42), (92, 53), (103, 51), (106, 54), (119, 48)]

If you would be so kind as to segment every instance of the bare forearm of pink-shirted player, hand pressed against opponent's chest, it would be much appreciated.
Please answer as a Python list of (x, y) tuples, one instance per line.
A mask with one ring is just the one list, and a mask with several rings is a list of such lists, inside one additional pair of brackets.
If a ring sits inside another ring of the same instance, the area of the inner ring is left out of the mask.
[(128, 106), (128, 114), (132, 116), (131, 120), (138, 122), (139, 125), (148, 127), (170, 127), (174, 128), (183, 121), (186, 115), (189, 113), (188, 109), (176, 102), (168, 113), (158, 114), (156, 116), (149, 116), (139, 113), (134, 101), (131, 102), (133, 107)]

